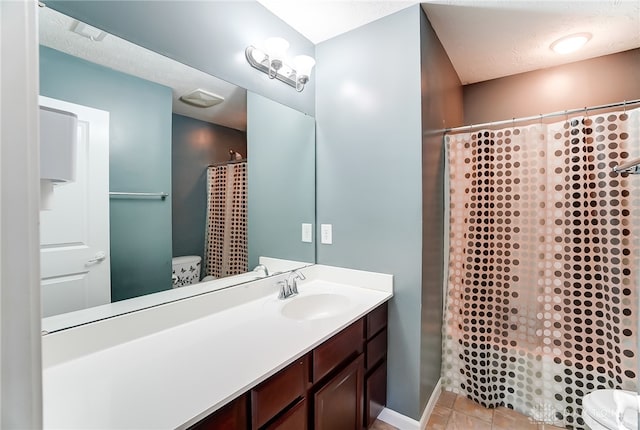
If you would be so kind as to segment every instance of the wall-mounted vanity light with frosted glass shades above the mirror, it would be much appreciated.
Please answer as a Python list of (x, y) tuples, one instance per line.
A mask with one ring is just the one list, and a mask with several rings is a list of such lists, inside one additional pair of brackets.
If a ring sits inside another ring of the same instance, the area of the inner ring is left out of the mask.
[(269, 78), (291, 85), (298, 92), (304, 90), (316, 60), (308, 55), (298, 55), (291, 63), (287, 62), (289, 42), (281, 37), (270, 37), (263, 46), (261, 49), (252, 45), (247, 47), (245, 55), (249, 64)]

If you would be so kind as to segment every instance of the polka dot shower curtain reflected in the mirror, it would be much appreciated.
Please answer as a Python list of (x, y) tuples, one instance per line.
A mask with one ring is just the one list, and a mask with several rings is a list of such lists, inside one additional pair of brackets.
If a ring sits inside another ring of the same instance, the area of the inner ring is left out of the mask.
[(210, 166), (205, 275), (222, 278), (247, 271), (247, 162)]

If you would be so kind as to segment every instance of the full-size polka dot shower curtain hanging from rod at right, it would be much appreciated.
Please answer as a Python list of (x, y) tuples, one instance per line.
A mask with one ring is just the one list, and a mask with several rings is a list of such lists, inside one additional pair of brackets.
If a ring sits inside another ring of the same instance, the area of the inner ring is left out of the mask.
[(640, 109), (446, 136), (444, 389), (582, 429), (636, 390)]

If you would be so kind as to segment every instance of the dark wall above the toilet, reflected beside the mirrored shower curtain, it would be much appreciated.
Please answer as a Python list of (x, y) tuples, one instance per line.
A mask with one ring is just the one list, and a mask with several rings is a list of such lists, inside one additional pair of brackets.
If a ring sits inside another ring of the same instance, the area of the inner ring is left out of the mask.
[(204, 258), (207, 167), (229, 160), (229, 149), (246, 157), (246, 132), (173, 115), (171, 189), (174, 257), (199, 255)]

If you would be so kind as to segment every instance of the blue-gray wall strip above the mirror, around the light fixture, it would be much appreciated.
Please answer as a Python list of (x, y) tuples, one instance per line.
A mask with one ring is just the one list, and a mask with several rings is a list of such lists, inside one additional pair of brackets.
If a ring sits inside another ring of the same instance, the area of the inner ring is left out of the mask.
[(54, 1), (69, 16), (220, 79), (314, 114), (315, 72), (301, 93), (270, 80), (245, 59), (248, 45), (286, 38), (291, 56), (315, 56), (314, 45), (254, 1)]

